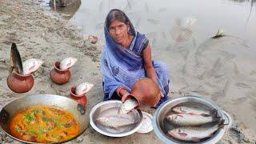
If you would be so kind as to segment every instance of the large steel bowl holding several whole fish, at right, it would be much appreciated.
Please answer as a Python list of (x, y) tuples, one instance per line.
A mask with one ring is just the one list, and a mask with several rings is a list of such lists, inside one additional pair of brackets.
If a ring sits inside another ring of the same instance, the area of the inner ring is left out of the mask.
[[(158, 138), (165, 143), (197, 143), (197, 142), (186, 142), (180, 141), (176, 138), (172, 138), (167, 133), (168, 130), (174, 128), (169, 122), (166, 120), (166, 116), (172, 114), (172, 108), (174, 106), (196, 106), (205, 110), (217, 110), (218, 117), (225, 119), (225, 124), (230, 126), (230, 122), (232, 122), (226, 114), (222, 112), (210, 100), (206, 98), (198, 97), (198, 96), (183, 96), (183, 97), (174, 97), (170, 98), (168, 101), (162, 103), (161, 106), (158, 107), (158, 110), (155, 111), (153, 117), (153, 128), (154, 133), (157, 134)], [(225, 126), (225, 127), (227, 127)], [(199, 143), (216, 143), (218, 142), (223, 134), (225, 133), (226, 128), (218, 129), (214, 135), (210, 138), (204, 138)]]

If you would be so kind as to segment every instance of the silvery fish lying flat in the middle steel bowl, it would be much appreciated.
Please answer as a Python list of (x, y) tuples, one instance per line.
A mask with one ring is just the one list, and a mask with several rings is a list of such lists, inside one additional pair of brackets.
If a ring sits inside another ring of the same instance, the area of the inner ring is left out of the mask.
[(121, 116), (120, 114), (96, 118), (96, 122), (103, 126), (107, 126), (114, 129), (117, 129), (118, 127), (122, 126), (129, 126), (136, 123), (134, 119)]

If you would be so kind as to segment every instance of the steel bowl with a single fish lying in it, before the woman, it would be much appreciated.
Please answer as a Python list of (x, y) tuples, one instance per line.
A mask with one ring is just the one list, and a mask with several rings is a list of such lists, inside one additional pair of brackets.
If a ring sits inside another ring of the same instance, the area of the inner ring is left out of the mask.
[(134, 134), (142, 125), (142, 112), (141, 110), (134, 110), (130, 114), (126, 114), (127, 117), (133, 118), (135, 123), (129, 126), (122, 126), (118, 129), (102, 126), (98, 124), (96, 118), (107, 117), (113, 114), (118, 114), (118, 109), (122, 105), (121, 101), (110, 100), (106, 102), (100, 102), (90, 110), (90, 125), (94, 130), (100, 134), (104, 134), (110, 137), (124, 137), (130, 134)]

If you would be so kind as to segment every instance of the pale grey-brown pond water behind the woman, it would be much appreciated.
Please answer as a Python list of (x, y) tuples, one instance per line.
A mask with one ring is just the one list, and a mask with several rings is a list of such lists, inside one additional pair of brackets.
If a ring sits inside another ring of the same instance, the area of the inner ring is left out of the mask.
[[(166, 62), (169, 67), (171, 91), (211, 98), (256, 130), (255, 106), (250, 106), (254, 98), (251, 95), (256, 94), (255, 3), (256, 0), (83, 0), (70, 22), (81, 26), (84, 34), (97, 35), (104, 42), (106, 14), (113, 8), (124, 10), (135, 29), (150, 39), (153, 59)], [(226, 36), (213, 39), (220, 28)], [(237, 99), (243, 99), (247, 106)]]

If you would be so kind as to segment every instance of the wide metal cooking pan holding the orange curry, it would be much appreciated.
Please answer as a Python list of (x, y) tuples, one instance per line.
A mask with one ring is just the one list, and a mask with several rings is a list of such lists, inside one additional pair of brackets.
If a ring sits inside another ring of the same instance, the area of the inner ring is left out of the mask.
[[(2, 110), (0, 111), (1, 129), (11, 138), (14, 138), (15, 140), (18, 140), (20, 142), (37, 143), (27, 142), (12, 136), (10, 134), (9, 122), (10, 119), (14, 116), (14, 114), (19, 110), (24, 110), (29, 106), (38, 104), (44, 106), (57, 106), (62, 110), (66, 110), (72, 113), (74, 115), (75, 120), (79, 124), (78, 135), (82, 134), (89, 124), (89, 112), (85, 109), (85, 107), (79, 105), (78, 102), (74, 101), (73, 99), (53, 94), (38, 94), (15, 99), (14, 101), (6, 104), (6, 106), (3, 106)], [(78, 137), (78, 135), (76, 135), (74, 138)], [(73, 138), (67, 139), (66, 141), (70, 141), (71, 139)]]

